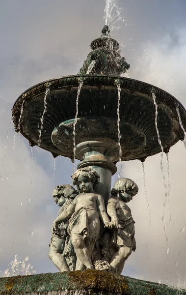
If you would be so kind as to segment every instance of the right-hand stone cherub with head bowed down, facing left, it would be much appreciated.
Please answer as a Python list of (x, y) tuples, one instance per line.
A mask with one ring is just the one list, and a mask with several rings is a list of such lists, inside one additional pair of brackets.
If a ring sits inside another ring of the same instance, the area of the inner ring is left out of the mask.
[(111, 244), (116, 252), (110, 260), (111, 269), (121, 274), (125, 261), (136, 249), (134, 238), (134, 221), (131, 209), (126, 203), (133, 200), (138, 192), (138, 186), (129, 178), (116, 180), (112, 190), (112, 197), (107, 203), (107, 213), (111, 217), (112, 229)]

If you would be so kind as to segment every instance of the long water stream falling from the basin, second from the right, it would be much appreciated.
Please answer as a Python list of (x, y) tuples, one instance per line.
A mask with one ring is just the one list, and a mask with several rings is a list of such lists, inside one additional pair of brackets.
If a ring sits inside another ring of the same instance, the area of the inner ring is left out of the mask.
[[(161, 168), (161, 173), (163, 176), (163, 184), (165, 187), (165, 197), (164, 197), (164, 202), (163, 202), (163, 216), (162, 216), (162, 221), (164, 223), (164, 234), (165, 234), (165, 240), (166, 240), (166, 249), (167, 249), (167, 256), (166, 256), (166, 276), (168, 274), (168, 253), (169, 253), (169, 248), (168, 248), (168, 237), (167, 237), (167, 232), (166, 232), (166, 223), (165, 223), (165, 205), (166, 205), (166, 201), (167, 201), (167, 197), (168, 197), (168, 192), (167, 192), (167, 185), (165, 183), (165, 176), (163, 173), (163, 165), (162, 165), (162, 161), (163, 161), (163, 147), (161, 144), (161, 140), (159, 137), (159, 129), (158, 129), (158, 105), (156, 103), (156, 95), (154, 92), (152, 92), (152, 97), (153, 97), (153, 101), (154, 101), (154, 105), (155, 105), (155, 126), (156, 126), (156, 131), (157, 131), (157, 135), (158, 135), (158, 142), (159, 142), (159, 146), (161, 148), (161, 161), (160, 161), (160, 168)], [(167, 158), (167, 168), (168, 168), (168, 177), (169, 177), (169, 162), (168, 162), (168, 158)], [(168, 180), (168, 182), (170, 183), (170, 179)]]

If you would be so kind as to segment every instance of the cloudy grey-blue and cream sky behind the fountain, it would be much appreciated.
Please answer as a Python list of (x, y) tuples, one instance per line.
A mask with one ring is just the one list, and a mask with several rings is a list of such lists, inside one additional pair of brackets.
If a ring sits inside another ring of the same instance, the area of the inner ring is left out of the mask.
[[(112, 0), (108, 19), (128, 76), (170, 92), (186, 106), (186, 1)], [(48, 258), (51, 226), (58, 213), (53, 187), (71, 183), (73, 164), (14, 133), (11, 109), (27, 88), (78, 73), (90, 42), (105, 25), (104, 0), (0, 0), (0, 276), (18, 255), (36, 273), (56, 272)], [(119, 20), (114, 16), (120, 11)], [(113, 25), (114, 20), (116, 20)], [(122, 177), (139, 192), (129, 204), (137, 249), (123, 275), (186, 289), (186, 150), (179, 142), (163, 155), (122, 163)], [(112, 184), (117, 174), (112, 177)], [(163, 204), (164, 212), (163, 214)], [(163, 221), (164, 216), (164, 221)], [(10, 275), (14, 274), (10, 270)]]

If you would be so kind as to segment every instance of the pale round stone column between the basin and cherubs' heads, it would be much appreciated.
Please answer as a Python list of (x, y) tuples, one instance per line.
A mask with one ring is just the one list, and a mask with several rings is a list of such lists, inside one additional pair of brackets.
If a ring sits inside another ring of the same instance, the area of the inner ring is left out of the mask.
[(116, 152), (116, 144), (109, 140), (95, 140), (82, 142), (75, 148), (75, 155), (81, 160), (78, 169), (91, 167), (99, 174), (100, 183), (96, 190), (104, 197), (105, 202), (110, 196), (111, 177), (117, 171), (113, 163), (119, 159), (119, 148)]

